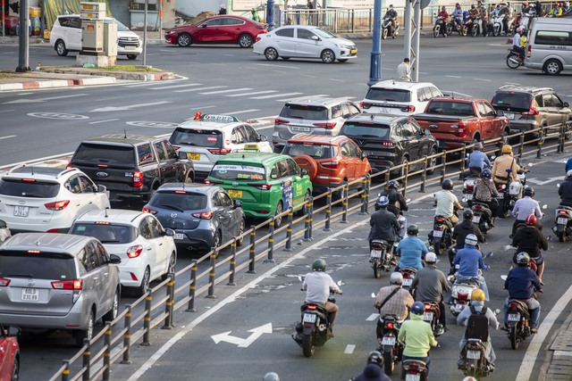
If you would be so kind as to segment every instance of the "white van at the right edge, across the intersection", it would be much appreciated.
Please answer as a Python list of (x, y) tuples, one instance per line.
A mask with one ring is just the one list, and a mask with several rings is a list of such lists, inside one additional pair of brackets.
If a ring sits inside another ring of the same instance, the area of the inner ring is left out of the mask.
[(534, 18), (528, 33), (525, 66), (558, 75), (572, 70), (572, 18)]

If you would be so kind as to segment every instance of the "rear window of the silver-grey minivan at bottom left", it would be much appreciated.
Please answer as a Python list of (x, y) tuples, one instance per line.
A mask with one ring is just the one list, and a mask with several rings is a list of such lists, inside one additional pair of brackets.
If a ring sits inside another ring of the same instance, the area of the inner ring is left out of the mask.
[(63, 253), (0, 252), (0, 277), (75, 279), (73, 257)]

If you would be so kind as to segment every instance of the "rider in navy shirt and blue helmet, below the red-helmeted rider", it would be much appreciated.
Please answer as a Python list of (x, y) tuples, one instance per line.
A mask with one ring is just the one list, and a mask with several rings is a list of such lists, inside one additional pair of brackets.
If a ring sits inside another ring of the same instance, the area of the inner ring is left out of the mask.
[(510, 269), (509, 275), (504, 281), (504, 288), (509, 290), (509, 296), (504, 301), (502, 313), (504, 324), (507, 327), (507, 311), (509, 310), (509, 300), (517, 299), (526, 302), (532, 327), (530, 332), (536, 333), (540, 321), (540, 302), (534, 298), (534, 290), (543, 292), (540, 279), (536, 273), (530, 269), (530, 256), (528, 253), (517, 253), (517, 267)]

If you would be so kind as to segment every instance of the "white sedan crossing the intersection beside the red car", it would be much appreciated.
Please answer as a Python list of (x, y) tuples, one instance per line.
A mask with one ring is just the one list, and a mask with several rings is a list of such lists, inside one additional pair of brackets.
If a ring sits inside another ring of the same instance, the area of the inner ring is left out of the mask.
[(325, 63), (346, 62), (357, 57), (356, 44), (327, 30), (303, 25), (287, 25), (258, 35), (254, 53), (266, 60), (296, 58), (321, 59)]

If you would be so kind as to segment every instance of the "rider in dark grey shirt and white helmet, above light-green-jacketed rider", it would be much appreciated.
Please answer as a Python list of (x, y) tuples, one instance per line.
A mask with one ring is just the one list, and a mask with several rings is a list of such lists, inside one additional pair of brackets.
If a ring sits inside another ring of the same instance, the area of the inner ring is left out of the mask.
[(443, 291), (449, 293), (450, 286), (442, 270), (437, 269), (437, 255), (435, 253), (425, 254), (425, 268), (417, 271), (409, 290), (415, 295), (416, 302), (434, 302), (439, 304), (439, 309), (441, 310), (439, 324), (441, 324), (442, 330), (446, 331), (447, 319), (445, 319)]

